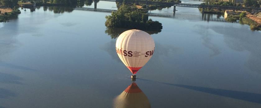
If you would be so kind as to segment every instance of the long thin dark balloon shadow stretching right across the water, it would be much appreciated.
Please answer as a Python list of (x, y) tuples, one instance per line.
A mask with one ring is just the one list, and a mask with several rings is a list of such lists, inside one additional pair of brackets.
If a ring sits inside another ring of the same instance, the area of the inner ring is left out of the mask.
[[(152, 81), (152, 80), (147, 80), (147, 79), (137, 79), (137, 80)], [(204, 92), (204, 93), (210, 93), (210, 94), (215, 94), (215, 95), (219, 95), (219, 96), (240, 99), (240, 100), (248, 101), (248, 102), (261, 103), (261, 94), (258, 94), (258, 93), (249, 93), (249, 92), (241, 92), (241, 91), (233, 91), (233, 90), (225, 90), (225, 89), (214, 89), (214, 88), (191, 86), (191, 85), (171, 84), (171, 83), (158, 82), (158, 81), (152, 81), (152, 82), (165, 84), (165, 85), (172, 85), (172, 86), (181, 87), (181, 88), (185, 88), (185, 89), (192, 89), (192, 90), (196, 90), (196, 91), (200, 91), (200, 92)]]

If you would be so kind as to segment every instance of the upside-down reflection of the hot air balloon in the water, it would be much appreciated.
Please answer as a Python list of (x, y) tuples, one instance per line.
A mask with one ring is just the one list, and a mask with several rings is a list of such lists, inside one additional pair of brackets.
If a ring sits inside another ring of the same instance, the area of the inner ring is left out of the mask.
[(150, 108), (149, 99), (135, 82), (114, 99), (114, 108)]

